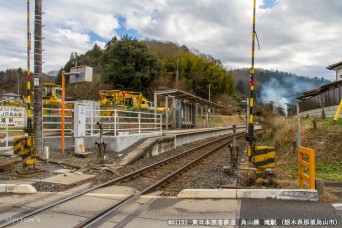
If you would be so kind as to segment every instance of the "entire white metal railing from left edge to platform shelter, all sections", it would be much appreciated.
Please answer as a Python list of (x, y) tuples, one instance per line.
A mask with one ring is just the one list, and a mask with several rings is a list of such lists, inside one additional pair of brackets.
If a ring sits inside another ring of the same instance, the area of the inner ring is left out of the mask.
[[(104, 116), (104, 112), (111, 112), (110, 116)], [(73, 137), (74, 110), (65, 109), (65, 137)], [(102, 122), (103, 133), (106, 136), (139, 135), (162, 131), (162, 114), (148, 112), (133, 112), (123, 110), (86, 110), (85, 132), (86, 136), (99, 134), (97, 122)], [(43, 138), (60, 138), (62, 135), (62, 110), (43, 108)], [(9, 126), (0, 127), (0, 149), (12, 146), (13, 138), (23, 136), (21, 128)]]

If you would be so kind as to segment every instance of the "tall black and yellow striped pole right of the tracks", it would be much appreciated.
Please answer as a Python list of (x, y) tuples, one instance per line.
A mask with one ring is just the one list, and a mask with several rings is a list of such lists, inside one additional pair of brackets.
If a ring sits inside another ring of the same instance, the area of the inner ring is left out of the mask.
[(251, 161), (254, 155), (255, 145), (254, 145), (254, 125), (253, 125), (253, 105), (254, 105), (254, 47), (255, 47), (255, 8), (256, 0), (254, 0), (253, 7), (253, 32), (252, 32), (252, 67), (250, 69), (249, 76), (249, 123), (247, 132), (248, 141), (248, 157)]

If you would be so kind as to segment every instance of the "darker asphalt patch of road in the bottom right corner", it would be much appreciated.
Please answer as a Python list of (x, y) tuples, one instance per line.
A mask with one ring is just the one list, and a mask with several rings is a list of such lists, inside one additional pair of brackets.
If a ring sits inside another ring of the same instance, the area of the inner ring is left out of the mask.
[[(342, 211), (324, 202), (244, 199), (239, 218), (239, 227), (342, 227)], [(253, 226), (256, 219), (260, 225)]]

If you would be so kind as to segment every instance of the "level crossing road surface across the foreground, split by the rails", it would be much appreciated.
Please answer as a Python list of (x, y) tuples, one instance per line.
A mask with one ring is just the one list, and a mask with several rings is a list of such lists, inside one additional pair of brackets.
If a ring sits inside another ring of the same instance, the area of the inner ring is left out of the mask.
[[(14, 227), (74, 227), (94, 213), (115, 205), (120, 199), (134, 193), (135, 190), (128, 187), (106, 187), (25, 219), (21, 223), (16, 223)], [(44, 205), (51, 199), (55, 200), (67, 194), (70, 193), (38, 193), (33, 197), (5, 195), (0, 201), (0, 219), (1, 221), (11, 219), (10, 216), (16, 213)], [(250, 224), (249, 227), (264, 227), (263, 225), (269, 223), (273, 226), (267, 227), (279, 227), (292, 220), (309, 223), (313, 220), (330, 221), (332, 226), (329, 227), (340, 227), (342, 224), (342, 216), (337, 210), (340, 205), (334, 207), (324, 202), (275, 199), (185, 199), (161, 197), (158, 194), (142, 196), (133, 203), (121, 207), (98, 227), (238, 227), (243, 224)], [(259, 223), (260, 226), (253, 226), (252, 223)]]

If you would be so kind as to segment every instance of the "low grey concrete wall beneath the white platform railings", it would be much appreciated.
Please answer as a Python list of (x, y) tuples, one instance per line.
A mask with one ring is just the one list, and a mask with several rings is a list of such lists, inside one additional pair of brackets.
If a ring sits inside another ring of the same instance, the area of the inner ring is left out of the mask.
[[(141, 135), (124, 135), (124, 136), (103, 136), (102, 139), (107, 143), (107, 152), (121, 152), (134, 143), (138, 142), (141, 139), (161, 136), (162, 133), (148, 133)], [(84, 147), (87, 150), (89, 149), (97, 149), (95, 145), (96, 141), (100, 141), (100, 137), (98, 136), (86, 136), (84, 138)], [(74, 145), (73, 138), (65, 138), (65, 149), (73, 149), (72, 145)], [(61, 150), (61, 137), (58, 138), (44, 138), (43, 146), (48, 146), (50, 151), (60, 151)]]

